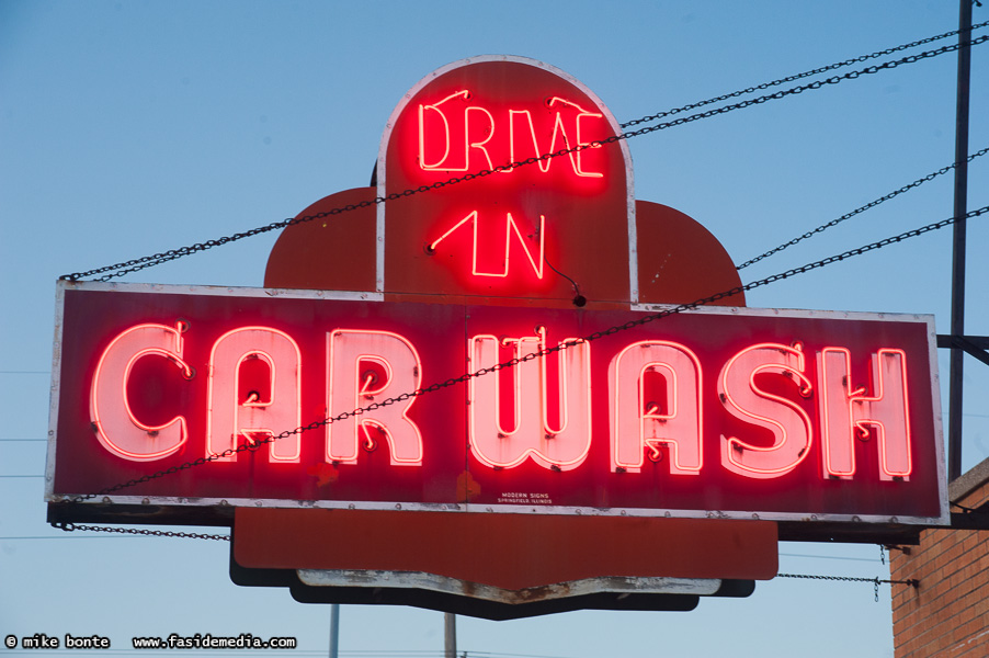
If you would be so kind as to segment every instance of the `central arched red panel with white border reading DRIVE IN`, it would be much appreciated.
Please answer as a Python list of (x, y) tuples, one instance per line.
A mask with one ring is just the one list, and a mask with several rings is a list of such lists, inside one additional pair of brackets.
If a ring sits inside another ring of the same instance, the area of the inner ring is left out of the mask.
[[(442, 67), (382, 137), (377, 193), (476, 179), (377, 209), (379, 292), (637, 299), (632, 158), (607, 106), (556, 67), (507, 55)], [(543, 158), (547, 154), (559, 154)], [(524, 163), (524, 164), (519, 164)]]

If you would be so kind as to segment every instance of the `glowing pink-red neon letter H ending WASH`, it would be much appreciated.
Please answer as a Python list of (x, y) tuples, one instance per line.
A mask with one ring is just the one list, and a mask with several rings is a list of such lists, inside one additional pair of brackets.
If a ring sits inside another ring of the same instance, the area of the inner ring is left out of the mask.
[(879, 350), (872, 355), (872, 388), (852, 385), (852, 356), (844, 348), (825, 348), (818, 354), (821, 381), (821, 436), (825, 476), (855, 475), (855, 434), (867, 438), (867, 426), (878, 436), (879, 479), (908, 479), (910, 410), (907, 400), (907, 354)]

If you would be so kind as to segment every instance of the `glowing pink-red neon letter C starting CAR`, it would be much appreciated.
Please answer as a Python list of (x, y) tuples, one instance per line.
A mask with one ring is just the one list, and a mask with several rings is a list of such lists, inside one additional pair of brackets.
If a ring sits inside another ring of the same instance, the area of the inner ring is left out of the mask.
[(192, 368), (182, 361), (182, 332), (186, 326), (138, 325), (127, 329), (103, 350), (96, 363), (90, 395), (89, 412), (96, 439), (111, 453), (133, 462), (150, 462), (166, 457), (185, 443), (185, 418), (144, 424), (130, 411), (127, 381), (138, 359), (149, 354), (164, 356), (192, 378)]

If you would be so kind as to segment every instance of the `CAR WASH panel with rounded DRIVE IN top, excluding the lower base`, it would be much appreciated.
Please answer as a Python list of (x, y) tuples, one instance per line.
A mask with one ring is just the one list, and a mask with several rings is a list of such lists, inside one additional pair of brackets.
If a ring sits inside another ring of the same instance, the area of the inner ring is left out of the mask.
[(48, 500), (944, 522), (933, 320), (653, 318), (740, 281), (619, 135), (549, 65), (454, 63), (263, 288), (60, 283)]

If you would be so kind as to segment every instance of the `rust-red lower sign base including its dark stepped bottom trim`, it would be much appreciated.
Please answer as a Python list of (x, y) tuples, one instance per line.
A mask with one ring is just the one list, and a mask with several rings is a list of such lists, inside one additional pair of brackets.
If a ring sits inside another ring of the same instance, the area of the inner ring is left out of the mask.
[[(238, 510), (230, 577), (241, 586), (288, 588), (306, 603), (414, 605), (511, 620), (584, 609), (689, 611), (700, 597), (749, 595), (754, 581), (742, 576), (768, 579), (776, 572), (770, 522), (546, 521), (518, 514)], [(432, 572), (396, 568), (411, 564)], [(637, 571), (685, 577), (632, 575)]]

